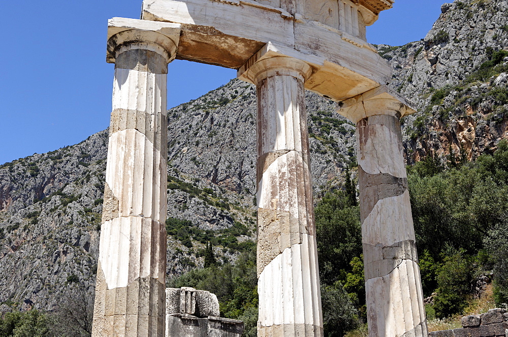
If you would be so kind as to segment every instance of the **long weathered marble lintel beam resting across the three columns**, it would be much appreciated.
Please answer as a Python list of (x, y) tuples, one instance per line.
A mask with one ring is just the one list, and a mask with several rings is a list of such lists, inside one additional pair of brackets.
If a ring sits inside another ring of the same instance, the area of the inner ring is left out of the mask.
[(305, 89), (337, 102), (391, 80), (387, 61), (356, 36), (260, 2), (232, 3), (145, 0), (142, 18), (181, 24), (177, 59), (241, 69), (270, 51), (305, 61), (313, 69)]

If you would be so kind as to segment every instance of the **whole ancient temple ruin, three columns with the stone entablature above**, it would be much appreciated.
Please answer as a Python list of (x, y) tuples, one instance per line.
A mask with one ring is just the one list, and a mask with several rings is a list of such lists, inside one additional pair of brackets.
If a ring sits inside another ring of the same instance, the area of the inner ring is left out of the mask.
[[(238, 69), (258, 95), (258, 336), (322, 336), (304, 91), (357, 125), (371, 336), (426, 336), (399, 119), (414, 110), (365, 27), (392, 0), (145, 0), (115, 63), (93, 336), (165, 331), (167, 65)], [(171, 74), (170, 74), (171, 79)]]

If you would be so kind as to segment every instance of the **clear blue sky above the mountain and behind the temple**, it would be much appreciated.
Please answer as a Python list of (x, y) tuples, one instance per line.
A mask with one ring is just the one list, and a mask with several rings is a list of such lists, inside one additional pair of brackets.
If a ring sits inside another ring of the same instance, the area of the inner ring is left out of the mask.
[[(445, 2), (398, 0), (368, 28), (368, 41), (403, 45), (424, 38)], [(0, 0), (0, 164), (108, 127), (114, 65), (105, 61), (107, 20), (139, 18), (140, 9), (141, 0)], [(175, 61), (168, 108), (235, 76), (232, 69)]]

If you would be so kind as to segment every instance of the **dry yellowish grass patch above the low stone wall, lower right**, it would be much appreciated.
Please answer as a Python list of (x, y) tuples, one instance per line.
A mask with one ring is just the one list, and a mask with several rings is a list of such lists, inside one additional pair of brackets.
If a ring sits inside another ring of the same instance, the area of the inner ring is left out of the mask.
[(493, 309), (495, 307), (496, 304), (494, 302), (492, 284), (489, 284), (482, 298), (471, 299), (468, 301), (468, 306), (464, 309), (462, 314), (457, 314), (444, 319), (435, 318), (429, 320), (429, 332), (461, 328), (462, 316), (483, 314), (489, 311), (489, 309)]

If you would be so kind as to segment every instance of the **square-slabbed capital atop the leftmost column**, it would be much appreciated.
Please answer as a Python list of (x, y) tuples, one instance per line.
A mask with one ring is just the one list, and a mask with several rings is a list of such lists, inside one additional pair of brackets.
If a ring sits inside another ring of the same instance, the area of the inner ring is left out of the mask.
[(115, 63), (125, 51), (145, 49), (161, 54), (169, 63), (176, 56), (180, 27), (177, 23), (112, 18), (108, 21), (106, 61)]

